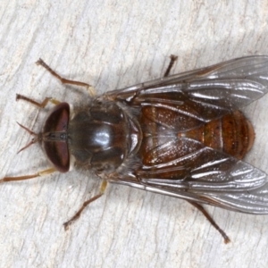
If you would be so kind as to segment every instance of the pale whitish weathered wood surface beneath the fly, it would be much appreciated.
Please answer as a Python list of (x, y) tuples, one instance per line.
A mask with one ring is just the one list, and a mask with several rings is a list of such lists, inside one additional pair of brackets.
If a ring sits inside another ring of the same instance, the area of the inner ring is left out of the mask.
[[(18, 4), (20, 3), (20, 4)], [(164, 3), (164, 4), (162, 4)], [(37, 145), (17, 155), (46, 111), (16, 93), (79, 103), (35, 62), (98, 93), (234, 57), (268, 54), (267, 1), (14, 1), (0, 6), (0, 177), (46, 168)], [(268, 172), (268, 96), (247, 108), (256, 142), (247, 161)], [(183, 200), (111, 186), (68, 231), (68, 220), (97, 191), (79, 172), (0, 185), (1, 267), (267, 267), (268, 215), (210, 207), (231, 243)]]

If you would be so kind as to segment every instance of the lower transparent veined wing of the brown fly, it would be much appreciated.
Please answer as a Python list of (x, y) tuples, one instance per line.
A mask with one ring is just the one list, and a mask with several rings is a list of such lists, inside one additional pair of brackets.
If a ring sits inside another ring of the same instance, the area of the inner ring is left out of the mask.
[(113, 182), (243, 213), (268, 214), (267, 175), (252, 165), (190, 138), (163, 143), (150, 154), (173, 156), (169, 162), (154, 163), (153, 170), (150, 163), (144, 165), (136, 180)]

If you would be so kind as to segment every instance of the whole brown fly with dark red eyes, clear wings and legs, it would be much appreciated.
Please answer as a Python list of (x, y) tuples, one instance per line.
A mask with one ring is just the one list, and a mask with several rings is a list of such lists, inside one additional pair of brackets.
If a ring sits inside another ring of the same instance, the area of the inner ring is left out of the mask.
[[(89, 86), (38, 63), (63, 83)], [(241, 161), (255, 134), (239, 112), (267, 91), (268, 57), (249, 56), (107, 92), (73, 110), (54, 99), (38, 104), (19, 95), (40, 107), (55, 105), (40, 134), (23, 127), (36, 137), (29, 145), (40, 142), (53, 168), (2, 181), (68, 172), (73, 163), (104, 181), (65, 228), (113, 182), (187, 200), (228, 242), (201, 204), (268, 214), (266, 174)]]

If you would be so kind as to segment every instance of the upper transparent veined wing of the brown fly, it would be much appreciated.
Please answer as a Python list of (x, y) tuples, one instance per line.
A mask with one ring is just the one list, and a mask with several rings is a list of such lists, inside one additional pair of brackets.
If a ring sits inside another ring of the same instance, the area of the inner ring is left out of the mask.
[(193, 109), (187, 116), (211, 121), (264, 96), (267, 88), (268, 57), (249, 56), (111, 91), (104, 97), (133, 106), (164, 107), (182, 116), (188, 105)]

